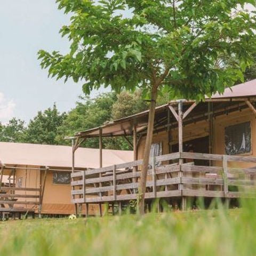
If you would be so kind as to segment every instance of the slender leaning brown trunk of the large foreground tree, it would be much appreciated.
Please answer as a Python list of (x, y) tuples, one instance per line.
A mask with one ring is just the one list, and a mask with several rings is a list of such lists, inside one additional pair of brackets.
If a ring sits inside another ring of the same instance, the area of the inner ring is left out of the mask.
[(158, 87), (157, 85), (153, 85), (151, 90), (151, 102), (150, 102), (149, 116), (148, 116), (147, 137), (146, 137), (146, 143), (145, 143), (145, 148), (143, 153), (143, 163), (142, 163), (141, 178), (140, 178), (140, 185), (139, 185), (139, 194), (137, 199), (137, 208), (140, 214), (144, 214), (144, 199), (145, 199), (145, 193), (146, 193), (149, 154), (150, 154), (150, 148), (151, 148), (153, 131), (154, 131), (157, 87)]

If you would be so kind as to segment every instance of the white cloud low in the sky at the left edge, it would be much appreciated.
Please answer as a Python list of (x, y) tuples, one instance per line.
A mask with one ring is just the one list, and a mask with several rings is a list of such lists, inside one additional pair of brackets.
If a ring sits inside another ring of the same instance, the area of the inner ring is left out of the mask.
[(13, 100), (6, 99), (0, 92), (0, 122), (5, 123), (13, 117), (15, 106)]

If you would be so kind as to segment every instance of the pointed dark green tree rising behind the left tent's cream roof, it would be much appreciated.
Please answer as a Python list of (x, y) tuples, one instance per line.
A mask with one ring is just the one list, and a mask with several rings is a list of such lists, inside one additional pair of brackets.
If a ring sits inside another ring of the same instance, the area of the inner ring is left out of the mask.
[(59, 113), (55, 103), (53, 108), (38, 111), (31, 119), (25, 131), (23, 140), (28, 143), (58, 145), (55, 140), (57, 129), (66, 118), (66, 113)]

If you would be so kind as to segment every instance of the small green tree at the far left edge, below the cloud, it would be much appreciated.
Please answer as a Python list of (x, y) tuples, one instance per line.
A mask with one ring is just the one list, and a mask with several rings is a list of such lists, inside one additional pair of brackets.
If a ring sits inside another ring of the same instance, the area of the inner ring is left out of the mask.
[(7, 124), (0, 123), (0, 141), (23, 142), (23, 134), (25, 130), (25, 122), (15, 117)]

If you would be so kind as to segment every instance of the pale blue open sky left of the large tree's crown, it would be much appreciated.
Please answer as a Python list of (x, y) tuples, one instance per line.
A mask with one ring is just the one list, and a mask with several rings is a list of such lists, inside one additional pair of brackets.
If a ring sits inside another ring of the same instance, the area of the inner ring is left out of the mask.
[[(37, 111), (57, 103), (60, 111), (75, 106), (82, 83), (56, 82), (47, 77), (37, 51), (68, 52), (68, 39), (59, 30), (69, 17), (55, 0), (0, 0), (0, 122), (12, 117), (27, 123)], [(98, 94), (93, 92), (92, 97)]]

